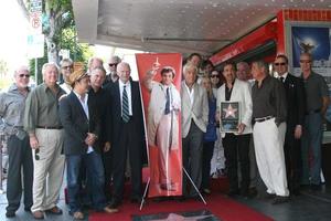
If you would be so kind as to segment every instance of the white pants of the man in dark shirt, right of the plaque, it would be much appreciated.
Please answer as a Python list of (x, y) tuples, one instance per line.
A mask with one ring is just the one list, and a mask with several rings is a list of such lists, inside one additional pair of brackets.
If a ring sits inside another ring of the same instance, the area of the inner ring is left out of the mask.
[(278, 127), (275, 118), (255, 123), (253, 137), (259, 175), (267, 186), (268, 193), (289, 196), (284, 158), (286, 123)]

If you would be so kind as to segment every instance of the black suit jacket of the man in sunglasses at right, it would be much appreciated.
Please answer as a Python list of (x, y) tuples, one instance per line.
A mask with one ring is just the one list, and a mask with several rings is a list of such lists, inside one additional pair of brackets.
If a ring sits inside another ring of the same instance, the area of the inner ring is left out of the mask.
[(287, 99), (287, 134), (293, 135), (297, 125), (303, 126), (306, 99), (301, 78), (288, 74), (285, 83)]

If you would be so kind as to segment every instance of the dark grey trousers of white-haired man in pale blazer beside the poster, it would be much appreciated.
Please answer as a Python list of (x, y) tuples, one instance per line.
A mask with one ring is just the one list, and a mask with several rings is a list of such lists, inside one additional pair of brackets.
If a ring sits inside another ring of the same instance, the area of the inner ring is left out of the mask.
[[(190, 175), (195, 187), (200, 189), (202, 173), (202, 146), (203, 131), (192, 120), (189, 134), (182, 139), (183, 167)], [(196, 190), (191, 187), (188, 190), (188, 177), (183, 172), (183, 194), (186, 197), (196, 197)]]

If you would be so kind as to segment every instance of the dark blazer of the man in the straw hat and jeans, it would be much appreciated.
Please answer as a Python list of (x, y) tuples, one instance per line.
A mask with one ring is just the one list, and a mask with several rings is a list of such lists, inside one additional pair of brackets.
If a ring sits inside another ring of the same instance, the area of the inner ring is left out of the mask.
[[(81, 102), (74, 92), (60, 102), (60, 119), (65, 131), (65, 155), (85, 154), (87, 150), (87, 145), (85, 144), (87, 133), (93, 133), (97, 136), (100, 135), (97, 104), (88, 97), (87, 105), (89, 119), (86, 117)], [(100, 150), (98, 140), (93, 147), (96, 151)]]

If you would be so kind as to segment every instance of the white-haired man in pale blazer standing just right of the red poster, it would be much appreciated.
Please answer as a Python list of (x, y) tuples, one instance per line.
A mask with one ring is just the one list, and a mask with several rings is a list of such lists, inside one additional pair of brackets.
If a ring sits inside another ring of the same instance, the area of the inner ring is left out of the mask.
[[(189, 172), (195, 187), (201, 185), (201, 161), (203, 133), (209, 119), (209, 103), (206, 91), (196, 84), (197, 67), (188, 63), (183, 67), (184, 81), (181, 85), (182, 103), (182, 155), (183, 167)], [(184, 197), (197, 198), (197, 192), (191, 187), (186, 189), (186, 177), (183, 176)]]

